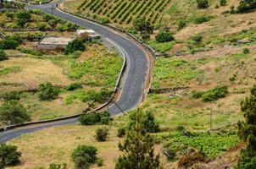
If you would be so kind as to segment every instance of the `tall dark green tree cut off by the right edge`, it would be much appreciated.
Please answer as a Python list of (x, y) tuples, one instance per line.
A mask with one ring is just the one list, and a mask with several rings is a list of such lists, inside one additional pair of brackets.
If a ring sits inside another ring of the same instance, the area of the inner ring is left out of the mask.
[(237, 134), (247, 143), (247, 147), (241, 151), (237, 169), (252, 169), (256, 166), (256, 85), (251, 89), (250, 96), (242, 101), (241, 110), (245, 121), (238, 123)]

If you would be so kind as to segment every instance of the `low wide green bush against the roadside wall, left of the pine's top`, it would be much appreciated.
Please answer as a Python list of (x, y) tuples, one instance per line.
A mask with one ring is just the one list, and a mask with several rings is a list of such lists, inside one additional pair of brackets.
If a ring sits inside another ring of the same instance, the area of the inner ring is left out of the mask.
[(91, 112), (82, 114), (78, 121), (83, 125), (109, 124), (111, 120), (109, 112)]

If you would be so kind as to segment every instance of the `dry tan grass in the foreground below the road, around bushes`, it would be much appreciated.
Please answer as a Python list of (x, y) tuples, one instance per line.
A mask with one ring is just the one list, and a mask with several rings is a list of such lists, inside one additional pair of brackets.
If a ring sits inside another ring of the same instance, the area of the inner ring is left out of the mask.
[[(52, 162), (65, 162), (68, 164), (69, 169), (73, 169), (74, 165), (70, 155), (78, 144), (88, 144), (97, 147), (97, 156), (104, 160), (104, 165), (102, 167), (93, 165), (91, 168), (114, 168), (116, 159), (121, 155), (118, 143), (122, 139), (116, 136), (117, 128), (108, 126), (109, 139), (106, 142), (97, 142), (94, 135), (95, 130), (99, 127), (101, 126), (70, 125), (48, 128), (34, 134), (25, 134), (8, 143), (17, 145), (22, 152), (21, 164), (8, 168), (32, 169), (39, 166), (47, 168)], [(155, 152), (159, 153), (161, 148), (161, 144), (156, 145)], [(167, 162), (164, 155), (161, 155), (161, 161), (164, 164)]]

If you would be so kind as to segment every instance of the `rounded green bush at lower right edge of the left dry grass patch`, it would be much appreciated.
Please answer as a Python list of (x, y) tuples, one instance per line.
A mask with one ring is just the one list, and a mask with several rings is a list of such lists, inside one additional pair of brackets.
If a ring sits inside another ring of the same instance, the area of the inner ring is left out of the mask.
[(51, 101), (54, 100), (58, 96), (59, 90), (58, 87), (46, 83), (39, 85), (38, 89), (38, 97), (41, 101)]

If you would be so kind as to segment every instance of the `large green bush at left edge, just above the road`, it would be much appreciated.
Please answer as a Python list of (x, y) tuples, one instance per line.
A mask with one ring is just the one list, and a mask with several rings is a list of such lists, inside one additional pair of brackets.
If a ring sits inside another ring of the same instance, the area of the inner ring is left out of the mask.
[(7, 101), (0, 106), (0, 121), (4, 124), (17, 124), (30, 121), (25, 106), (18, 101)]

